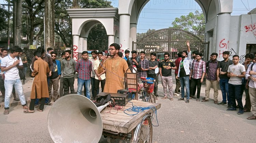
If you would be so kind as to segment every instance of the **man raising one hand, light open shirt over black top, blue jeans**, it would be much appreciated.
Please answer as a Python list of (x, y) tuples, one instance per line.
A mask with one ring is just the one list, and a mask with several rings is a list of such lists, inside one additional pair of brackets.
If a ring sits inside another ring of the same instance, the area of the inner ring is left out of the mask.
[(182, 52), (182, 60), (180, 62), (178, 75), (176, 78), (180, 78), (181, 81), (181, 98), (178, 101), (184, 100), (184, 88), (186, 87), (186, 103), (189, 103), (189, 75), (190, 75), (190, 60), (191, 60), (191, 51), (189, 41), (186, 42), (187, 51)]

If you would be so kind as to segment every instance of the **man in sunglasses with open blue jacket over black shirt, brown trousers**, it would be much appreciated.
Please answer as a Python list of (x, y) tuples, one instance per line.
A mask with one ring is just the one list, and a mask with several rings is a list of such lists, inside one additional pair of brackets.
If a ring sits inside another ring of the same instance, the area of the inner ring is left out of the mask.
[[(58, 99), (58, 88), (59, 88), (59, 78), (61, 75), (60, 69), (60, 61), (56, 59), (57, 53), (55, 51), (51, 52), (51, 57), (53, 61), (53, 70), (52, 75), (50, 76), (50, 81), (48, 84), (48, 91), (49, 91), (49, 99), (52, 99), (55, 102)], [(53, 96), (51, 96), (53, 87)]]

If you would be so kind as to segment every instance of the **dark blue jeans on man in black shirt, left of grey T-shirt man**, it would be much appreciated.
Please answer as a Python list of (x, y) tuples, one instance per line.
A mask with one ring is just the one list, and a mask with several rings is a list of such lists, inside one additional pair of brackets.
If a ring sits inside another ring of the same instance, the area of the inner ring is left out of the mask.
[[(228, 90), (228, 78), (220, 78), (219, 80), (219, 86), (221, 87), (222, 92), (222, 102), (231, 103), (230, 96), (229, 96), (229, 90)], [(239, 92), (240, 93), (240, 92)]]

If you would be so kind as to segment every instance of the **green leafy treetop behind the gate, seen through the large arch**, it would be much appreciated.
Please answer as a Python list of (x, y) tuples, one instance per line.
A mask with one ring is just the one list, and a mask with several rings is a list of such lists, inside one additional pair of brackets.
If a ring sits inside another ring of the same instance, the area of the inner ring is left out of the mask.
[(204, 39), (204, 23), (203, 12), (195, 11), (195, 14), (189, 13), (186, 16), (182, 15), (180, 18), (175, 18), (170, 28), (183, 29)]

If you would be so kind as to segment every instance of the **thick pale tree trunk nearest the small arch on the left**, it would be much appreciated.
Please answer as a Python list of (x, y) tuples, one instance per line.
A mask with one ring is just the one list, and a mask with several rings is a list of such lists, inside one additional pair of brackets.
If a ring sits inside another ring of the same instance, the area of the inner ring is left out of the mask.
[(45, 14), (45, 49), (53, 48), (54, 45), (54, 1), (55, 0), (45, 0), (44, 14)]

